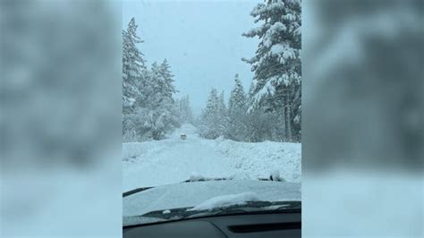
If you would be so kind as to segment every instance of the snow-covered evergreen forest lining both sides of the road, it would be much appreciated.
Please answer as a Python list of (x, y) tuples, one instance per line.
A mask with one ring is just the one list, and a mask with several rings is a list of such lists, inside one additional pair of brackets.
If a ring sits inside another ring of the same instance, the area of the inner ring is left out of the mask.
[(234, 69), (230, 97), (210, 89), (200, 115), (193, 114), (189, 95), (175, 97), (166, 59), (148, 65), (131, 18), (123, 30), (123, 141), (162, 140), (191, 123), (205, 139), (301, 142), (301, 1), (266, 0), (250, 15), (259, 25), (241, 36), (259, 38), (256, 52), (241, 59), (254, 73), (250, 88)]

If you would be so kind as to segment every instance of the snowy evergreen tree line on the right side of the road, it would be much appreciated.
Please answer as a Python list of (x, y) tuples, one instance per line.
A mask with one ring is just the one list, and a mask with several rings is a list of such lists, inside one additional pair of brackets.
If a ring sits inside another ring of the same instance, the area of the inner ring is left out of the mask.
[(199, 118), (208, 139), (301, 141), (301, 1), (265, 0), (251, 11), (261, 23), (244, 37), (260, 39), (256, 54), (242, 60), (254, 77), (247, 93), (238, 75), (228, 108), (212, 89)]

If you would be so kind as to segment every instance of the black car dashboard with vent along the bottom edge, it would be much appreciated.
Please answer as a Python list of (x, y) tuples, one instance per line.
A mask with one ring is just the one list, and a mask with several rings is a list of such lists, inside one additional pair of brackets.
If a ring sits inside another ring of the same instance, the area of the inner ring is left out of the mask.
[(199, 217), (123, 228), (123, 237), (301, 237), (301, 212)]

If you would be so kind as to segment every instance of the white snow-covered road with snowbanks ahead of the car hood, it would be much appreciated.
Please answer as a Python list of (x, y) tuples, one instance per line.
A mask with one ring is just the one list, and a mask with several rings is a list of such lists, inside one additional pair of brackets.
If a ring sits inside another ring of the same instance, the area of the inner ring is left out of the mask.
[[(180, 134), (187, 135), (186, 140)], [(197, 173), (208, 177), (267, 177), (279, 170), (285, 180), (301, 181), (301, 144), (205, 140), (183, 124), (166, 140), (123, 144), (123, 191), (179, 183)]]

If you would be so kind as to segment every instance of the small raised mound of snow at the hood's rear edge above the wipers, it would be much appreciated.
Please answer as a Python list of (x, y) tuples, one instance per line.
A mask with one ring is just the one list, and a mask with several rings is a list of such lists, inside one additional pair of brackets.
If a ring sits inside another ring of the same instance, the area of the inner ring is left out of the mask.
[(237, 204), (244, 204), (246, 201), (259, 200), (259, 196), (254, 192), (244, 192), (240, 194), (231, 194), (217, 196), (210, 200), (205, 200), (199, 205), (189, 210), (210, 210), (213, 208), (223, 208)]

